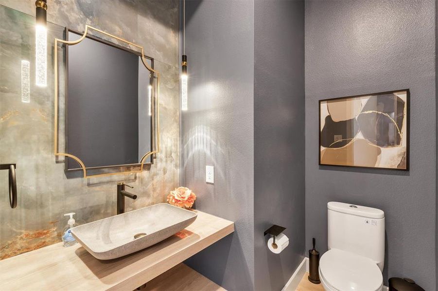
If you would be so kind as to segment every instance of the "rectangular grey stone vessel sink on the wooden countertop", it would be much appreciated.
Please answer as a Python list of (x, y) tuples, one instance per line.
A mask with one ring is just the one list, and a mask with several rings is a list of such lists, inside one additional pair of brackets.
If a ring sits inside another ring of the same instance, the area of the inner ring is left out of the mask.
[(166, 203), (75, 226), (71, 234), (97, 259), (115, 259), (167, 239), (197, 214)]

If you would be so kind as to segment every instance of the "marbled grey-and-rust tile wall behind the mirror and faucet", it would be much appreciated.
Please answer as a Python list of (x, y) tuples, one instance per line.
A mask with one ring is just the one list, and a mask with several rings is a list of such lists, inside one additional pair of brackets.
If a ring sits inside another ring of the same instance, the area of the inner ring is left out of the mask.
[[(35, 4), (0, 0), (0, 162), (17, 163), (18, 206), (9, 207), (7, 172), (0, 172), (0, 259), (60, 242), (63, 216), (76, 212), (87, 223), (116, 214), (116, 182), (135, 188), (127, 210), (164, 202), (179, 185), (178, 1), (51, 0), (48, 40), (64, 27), (83, 31), (85, 24), (140, 44), (161, 73), (161, 152), (141, 174), (103, 178), (67, 178), (64, 163), (53, 155), (53, 45), (48, 49), (48, 86), (31, 81), (31, 102), (20, 97), (20, 62), (31, 62), (35, 75)], [(52, 43), (49, 41), (49, 44)]]

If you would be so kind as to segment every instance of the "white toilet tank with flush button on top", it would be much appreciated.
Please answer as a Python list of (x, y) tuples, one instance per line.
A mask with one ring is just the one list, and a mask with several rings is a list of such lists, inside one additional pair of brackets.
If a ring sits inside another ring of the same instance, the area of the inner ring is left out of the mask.
[(385, 263), (385, 213), (376, 208), (329, 202), (328, 247)]

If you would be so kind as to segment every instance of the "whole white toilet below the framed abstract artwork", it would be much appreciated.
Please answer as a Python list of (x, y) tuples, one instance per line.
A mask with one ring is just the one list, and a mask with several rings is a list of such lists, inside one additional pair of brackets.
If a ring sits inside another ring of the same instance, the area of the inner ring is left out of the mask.
[(328, 248), (319, 260), (326, 291), (381, 291), (385, 263), (385, 213), (329, 202)]

